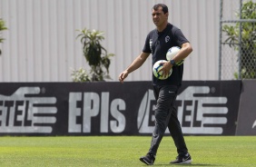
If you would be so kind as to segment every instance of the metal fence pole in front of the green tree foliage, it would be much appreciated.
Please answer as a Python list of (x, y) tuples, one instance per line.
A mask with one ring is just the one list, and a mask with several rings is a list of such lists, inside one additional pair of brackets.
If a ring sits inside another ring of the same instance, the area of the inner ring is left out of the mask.
[[(241, 6), (242, 0), (240, 0), (240, 19), (241, 19)], [(239, 53), (238, 53), (238, 79), (241, 80), (241, 22), (239, 23)]]

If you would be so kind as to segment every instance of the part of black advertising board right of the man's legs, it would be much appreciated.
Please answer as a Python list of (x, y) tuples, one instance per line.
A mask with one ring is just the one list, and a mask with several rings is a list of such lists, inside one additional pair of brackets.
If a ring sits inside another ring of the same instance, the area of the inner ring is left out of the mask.
[(185, 134), (234, 135), (241, 81), (183, 82), (177, 97)]

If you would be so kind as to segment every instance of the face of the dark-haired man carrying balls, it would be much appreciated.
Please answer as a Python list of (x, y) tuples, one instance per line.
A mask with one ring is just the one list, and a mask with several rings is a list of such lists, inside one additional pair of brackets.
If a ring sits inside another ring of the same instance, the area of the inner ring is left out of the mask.
[(163, 23), (165, 23), (168, 19), (168, 13), (163, 14), (162, 7), (158, 7), (157, 10), (152, 9), (152, 18), (153, 23), (156, 26), (161, 26)]

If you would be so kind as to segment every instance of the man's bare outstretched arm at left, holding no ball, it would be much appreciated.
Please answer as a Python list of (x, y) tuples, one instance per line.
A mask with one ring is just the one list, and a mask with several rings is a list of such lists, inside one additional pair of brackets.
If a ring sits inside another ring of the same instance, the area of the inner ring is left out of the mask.
[(126, 70), (124, 70), (121, 74), (119, 74), (119, 81), (123, 83), (124, 79), (128, 76), (128, 74), (132, 73), (133, 71), (140, 68), (143, 63), (146, 61), (150, 53), (142, 53), (138, 55), (134, 60), (133, 63), (128, 66)]

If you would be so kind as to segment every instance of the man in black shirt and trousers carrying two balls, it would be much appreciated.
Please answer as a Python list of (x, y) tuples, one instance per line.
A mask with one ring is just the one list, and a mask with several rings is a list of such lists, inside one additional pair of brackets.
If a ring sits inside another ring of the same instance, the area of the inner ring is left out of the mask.
[(192, 162), (192, 157), (183, 138), (181, 124), (177, 118), (177, 110), (174, 107), (178, 89), (182, 84), (183, 74), (183, 64), (176, 65), (176, 63), (192, 53), (192, 45), (179, 28), (168, 23), (168, 16), (169, 12), (166, 5), (153, 5), (152, 17), (156, 28), (147, 35), (143, 52), (119, 75), (119, 81), (123, 83), (128, 74), (142, 66), (150, 54), (152, 54), (154, 64), (159, 60), (166, 60), (166, 53), (172, 46), (181, 47), (180, 52), (171, 61), (162, 63), (162, 74), (168, 75), (172, 68), (172, 75), (165, 80), (159, 80), (153, 75), (153, 93), (156, 99), (155, 126), (149, 152), (140, 158), (141, 162), (148, 165), (153, 164), (167, 127), (178, 152), (176, 160), (171, 163)]

